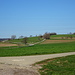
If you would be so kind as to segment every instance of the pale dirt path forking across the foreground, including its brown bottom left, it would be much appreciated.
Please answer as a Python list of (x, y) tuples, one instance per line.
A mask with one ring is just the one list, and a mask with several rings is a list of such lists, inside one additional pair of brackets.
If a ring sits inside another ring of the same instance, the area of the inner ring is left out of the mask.
[(56, 57), (75, 55), (75, 52), (33, 55), (19, 57), (0, 57), (0, 75), (39, 75), (32, 64)]

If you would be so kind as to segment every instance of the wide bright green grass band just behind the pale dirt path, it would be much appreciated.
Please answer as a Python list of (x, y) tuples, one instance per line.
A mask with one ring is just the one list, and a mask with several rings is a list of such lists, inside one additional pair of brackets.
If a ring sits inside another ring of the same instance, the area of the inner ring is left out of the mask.
[(75, 51), (75, 42), (39, 44), (31, 47), (0, 47), (0, 57), (3, 56), (26, 56)]

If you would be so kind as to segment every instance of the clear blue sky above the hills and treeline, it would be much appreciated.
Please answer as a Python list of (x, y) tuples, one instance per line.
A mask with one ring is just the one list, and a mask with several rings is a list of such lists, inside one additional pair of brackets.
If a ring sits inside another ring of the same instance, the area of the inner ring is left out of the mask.
[(75, 32), (75, 0), (0, 0), (0, 38)]

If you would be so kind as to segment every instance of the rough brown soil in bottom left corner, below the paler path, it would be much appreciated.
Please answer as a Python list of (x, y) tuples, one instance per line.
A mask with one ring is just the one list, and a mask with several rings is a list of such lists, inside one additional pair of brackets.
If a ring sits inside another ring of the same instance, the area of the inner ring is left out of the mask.
[(40, 75), (40, 74), (31, 68), (0, 64), (0, 75)]

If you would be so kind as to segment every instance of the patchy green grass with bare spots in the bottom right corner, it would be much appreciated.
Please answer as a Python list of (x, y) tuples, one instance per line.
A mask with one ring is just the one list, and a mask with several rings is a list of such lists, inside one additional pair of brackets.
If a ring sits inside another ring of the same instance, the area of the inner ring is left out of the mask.
[(75, 55), (41, 62), (41, 75), (75, 75)]

